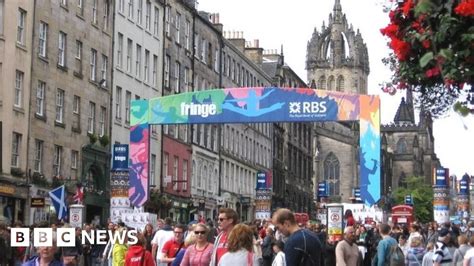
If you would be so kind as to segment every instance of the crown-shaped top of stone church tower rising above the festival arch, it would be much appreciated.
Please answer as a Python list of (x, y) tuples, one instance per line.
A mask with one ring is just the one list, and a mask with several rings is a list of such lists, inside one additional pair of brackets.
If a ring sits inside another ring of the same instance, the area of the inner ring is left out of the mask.
[(328, 26), (314, 29), (306, 53), (308, 82), (312, 88), (367, 94), (369, 55), (357, 30), (342, 13), (340, 0), (335, 0)]

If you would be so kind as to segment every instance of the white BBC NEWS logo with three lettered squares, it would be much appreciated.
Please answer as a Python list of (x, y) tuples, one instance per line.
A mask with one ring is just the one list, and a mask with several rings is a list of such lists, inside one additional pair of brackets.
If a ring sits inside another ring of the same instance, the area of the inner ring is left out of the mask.
[[(56, 237), (54, 237), (52, 228), (34, 228), (33, 235), (29, 228), (11, 228), (10, 243), (12, 247), (29, 247), (31, 238), (33, 238), (34, 247), (51, 247), (53, 240), (56, 240), (56, 247), (74, 247), (76, 246), (75, 228), (57, 228)], [(138, 242), (138, 232), (136, 230), (111, 231), (111, 230), (91, 230), (81, 231), (81, 243), (105, 245), (107, 240), (112, 243), (134, 245)], [(86, 242), (87, 241), (87, 242)]]

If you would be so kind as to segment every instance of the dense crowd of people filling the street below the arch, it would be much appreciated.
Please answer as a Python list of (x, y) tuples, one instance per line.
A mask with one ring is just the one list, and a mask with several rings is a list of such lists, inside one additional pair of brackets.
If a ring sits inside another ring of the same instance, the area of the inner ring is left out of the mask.
[[(73, 247), (11, 247), (10, 228), (0, 224), (0, 266), (474, 266), (474, 223), (366, 225), (357, 223), (348, 210), (342, 239), (333, 242), (323, 224), (298, 224), (288, 209), (277, 210), (272, 219), (239, 223), (235, 210), (221, 208), (216, 222), (214, 227), (211, 219), (187, 225), (158, 219), (130, 245), (112, 239), (105, 245), (82, 243), (82, 230), (99, 229), (86, 224), (76, 228)], [(68, 224), (32, 227), (54, 231)], [(107, 229), (131, 230), (122, 222), (109, 222)]]

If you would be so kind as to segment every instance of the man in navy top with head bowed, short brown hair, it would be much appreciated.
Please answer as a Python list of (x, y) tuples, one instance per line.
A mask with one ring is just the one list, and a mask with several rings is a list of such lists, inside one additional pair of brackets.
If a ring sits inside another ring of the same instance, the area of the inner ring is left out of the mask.
[(288, 236), (284, 250), (288, 266), (320, 265), (321, 243), (318, 237), (307, 229), (299, 228), (292, 211), (278, 209), (273, 214), (273, 224)]

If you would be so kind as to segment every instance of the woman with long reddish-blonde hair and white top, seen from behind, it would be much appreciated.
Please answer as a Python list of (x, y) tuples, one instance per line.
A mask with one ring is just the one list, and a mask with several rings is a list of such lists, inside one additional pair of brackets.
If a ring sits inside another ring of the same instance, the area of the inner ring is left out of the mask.
[(259, 265), (253, 253), (254, 232), (245, 224), (237, 224), (229, 233), (227, 252), (222, 255), (218, 266)]

